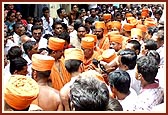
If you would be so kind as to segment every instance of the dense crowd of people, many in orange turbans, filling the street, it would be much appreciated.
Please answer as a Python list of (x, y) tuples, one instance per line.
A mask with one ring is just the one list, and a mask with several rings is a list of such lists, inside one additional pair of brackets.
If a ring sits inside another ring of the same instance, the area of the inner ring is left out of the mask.
[(4, 6), (4, 111), (164, 111), (164, 4), (78, 5)]

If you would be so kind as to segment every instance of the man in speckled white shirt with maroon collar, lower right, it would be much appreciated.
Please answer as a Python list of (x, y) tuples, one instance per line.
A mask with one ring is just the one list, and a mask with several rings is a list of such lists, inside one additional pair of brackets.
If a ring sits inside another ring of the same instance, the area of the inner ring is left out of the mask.
[(164, 102), (164, 90), (156, 80), (158, 62), (153, 56), (142, 56), (136, 63), (136, 78), (141, 81), (142, 90), (133, 110), (151, 111), (154, 106)]

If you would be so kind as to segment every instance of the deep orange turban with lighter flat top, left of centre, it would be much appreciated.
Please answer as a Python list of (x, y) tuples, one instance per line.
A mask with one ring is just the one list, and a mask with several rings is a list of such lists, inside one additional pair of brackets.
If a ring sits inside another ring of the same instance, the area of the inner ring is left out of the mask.
[(48, 48), (51, 50), (62, 50), (64, 48), (65, 40), (50, 37), (48, 42)]

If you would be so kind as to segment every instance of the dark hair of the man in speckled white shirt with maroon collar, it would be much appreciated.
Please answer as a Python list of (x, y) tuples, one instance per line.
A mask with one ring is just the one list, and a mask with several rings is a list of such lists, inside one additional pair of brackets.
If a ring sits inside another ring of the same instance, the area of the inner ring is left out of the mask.
[(138, 73), (142, 74), (142, 77), (148, 83), (153, 83), (158, 72), (158, 63), (153, 56), (142, 56), (137, 59)]

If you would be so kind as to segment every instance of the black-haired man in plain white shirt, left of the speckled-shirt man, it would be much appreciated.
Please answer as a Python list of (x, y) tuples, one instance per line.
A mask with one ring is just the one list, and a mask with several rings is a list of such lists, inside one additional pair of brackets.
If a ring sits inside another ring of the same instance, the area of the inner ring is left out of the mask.
[(130, 111), (134, 102), (137, 100), (137, 94), (130, 88), (131, 78), (124, 70), (115, 70), (109, 74), (109, 84), (111, 90), (119, 100), (124, 111)]

